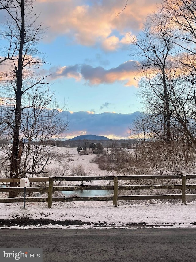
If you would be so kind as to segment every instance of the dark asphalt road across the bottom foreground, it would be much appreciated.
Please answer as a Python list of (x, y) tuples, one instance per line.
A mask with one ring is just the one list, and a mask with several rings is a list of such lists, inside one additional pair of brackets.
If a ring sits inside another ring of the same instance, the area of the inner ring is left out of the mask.
[(0, 229), (0, 247), (43, 248), (43, 262), (195, 262), (196, 229)]

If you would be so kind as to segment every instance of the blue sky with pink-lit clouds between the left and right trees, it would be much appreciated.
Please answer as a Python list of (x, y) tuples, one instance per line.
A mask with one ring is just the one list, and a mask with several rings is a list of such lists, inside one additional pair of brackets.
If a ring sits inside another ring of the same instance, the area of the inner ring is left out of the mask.
[[(141, 33), (148, 14), (160, 0), (36, 0), (38, 22), (47, 28), (38, 49), (45, 53), (48, 64), (42, 69), (51, 74), (51, 90), (60, 108), (98, 116), (105, 112), (116, 118), (140, 111), (137, 101), (138, 80), (134, 58), (130, 56), (129, 34)], [(121, 11), (123, 12), (119, 14)], [(118, 15), (119, 14), (119, 15)], [(136, 78), (136, 80), (134, 79)], [(112, 113), (112, 115), (111, 115)], [(73, 118), (73, 117), (72, 117)], [(67, 138), (81, 134), (126, 138), (131, 124), (122, 132), (102, 132), (88, 126), (77, 130), (70, 122)], [(92, 128), (91, 128), (92, 129)]]

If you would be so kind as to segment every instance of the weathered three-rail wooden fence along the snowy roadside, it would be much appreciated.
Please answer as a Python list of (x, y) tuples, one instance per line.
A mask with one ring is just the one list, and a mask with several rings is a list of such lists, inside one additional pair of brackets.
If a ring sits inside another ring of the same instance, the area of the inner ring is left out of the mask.
[[(138, 175), (138, 176), (86, 176), (86, 177), (44, 177), (44, 178), (29, 178), (30, 182), (48, 182), (48, 186), (27, 187), (26, 192), (48, 192), (48, 197), (27, 197), (26, 202), (47, 202), (50, 208), (52, 202), (71, 202), (71, 201), (112, 201), (114, 206), (117, 206), (117, 200), (146, 200), (146, 199), (181, 199), (186, 203), (186, 199), (196, 198), (196, 194), (186, 194), (187, 189), (196, 189), (196, 184), (186, 184), (187, 179), (195, 179), (196, 175)], [(0, 183), (19, 182), (21, 178), (0, 178)], [(165, 180), (179, 179), (180, 184), (171, 185), (119, 185), (119, 181), (131, 180)], [(97, 185), (97, 186), (54, 186), (54, 182), (65, 181), (113, 181), (113, 185)], [(118, 195), (119, 190), (155, 190), (167, 189), (181, 190), (181, 194), (164, 194), (164, 195)], [(75, 191), (75, 190), (114, 190), (113, 196), (96, 196), (96, 197), (53, 197), (55, 191)], [(20, 187), (2, 187), (1, 192), (23, 192)], [(17, 198), (0, 198), (0, 203), (18, 203), (23, 202), (23, 197)]]

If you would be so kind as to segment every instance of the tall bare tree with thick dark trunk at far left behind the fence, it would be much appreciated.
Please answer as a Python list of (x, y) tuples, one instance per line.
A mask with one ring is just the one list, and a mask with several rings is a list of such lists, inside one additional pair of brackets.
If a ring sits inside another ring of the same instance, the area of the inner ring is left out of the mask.
[[(48, 84), (46, 77), (38, 72), (41, 65), (45, 63), (44, 58), (38, 57), (39, 52), (37, 50), (37, 43), (43, 37), (44, 30), (42, 25), (37, 22), (33, 3), (33, 0), (0, 1), (0, 9), (3, 9), (1, 12), (5, 15), (5, 23), (1, 31), (5, 45), (2, 45), (0, 60), (1, 96), (4, 101), (4, 107), (1, 107), (1, 110), (4, 111), (4, 114), (0, 121), (2, 123), (0, 129), (2, 132), (6, 130), (6, 135), (9, 134), (8, 136), (12, 137), (13, 140), (11, 153), (8, 153), (10, 178), (17, 178), (20, 174), (24, 175), (26, 172), (26, 164), (24, 163), (25, 168), (23, 170), (20, 166), (24, 151), (22, 133), (24, 134), (25, 118), (23, 118), (23, 115), (25, 115), (25, 112), (31, 114), (36, 111), (36, 102), (32, 101), (32, 104), (30, 104), (29, 97), (32, 98), (35, 95), (33, 89), (39, 93), (39, 88)], [(42, 93), (42, 90), (40, 92)], [(11, 108), (10, 114), (6, 113), (5, 104), (7, 108)], [(6, 120), (4, 115), (7, 116)], [(29, 117), (32, 117), (32, 115), (29, 115)], [(45, 119), (44, 115), (43, 119)], [(28, 135), (31, 136), (31, 134)], [(29, 139), (31, 138), (29, 137)], [(11, 182), (10, 187), (13, 186), (17, 186), (17, 184)], [(9, 197), (15, 196), (15, 193), (10, 192)]]

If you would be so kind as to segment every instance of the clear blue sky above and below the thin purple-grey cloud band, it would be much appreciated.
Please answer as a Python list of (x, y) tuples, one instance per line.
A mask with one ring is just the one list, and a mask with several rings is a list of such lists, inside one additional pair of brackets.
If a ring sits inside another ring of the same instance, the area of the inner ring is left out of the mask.
[[(52, 61), (51, 65), (47, 65), (47, 69), (52, 73), (51, 75), (51, 89), (57, 91), (61, 96), (61, 102), (67, 101), (67, 107), (70, 111), (94, 111), (95, 113), (102, 113), (104, 111), (116, 113), (133, 113), (138, 111), (138, 104), (135, 100), (135, 92), (137, 88), (133, 85), (125, 86), (129, 80), (108, 80), (105, 82), (100, 77), (100, 83), (96, 81), (89, 81), (90, 76), (70, 77), (66, 72), (64, 74), (55, 75), (57, 68), (66, 67), (67, 69), (73, 67), (80, 73), (81, 67), (84, 66), (94, 69), (96, 74), (97, 67), (102, 70), (112, 70), (125, 62), (130, 60), (130, 50), (128, 43), (125, 45), (126, 49), (105, 52), (101, 48), (88, 47), (78, 44), (69, 45), (66, 41), (67, 37), (58, 37), (52, 43), (42, 43), (40, 46), (47, 54), (47, 60)], [(52, 51), (51, 51), (52, 50)], [(78, 69), (76, 69), (76, 66)], [(88, 68), (86, 69), (88, 71)], [(105, 72), (107, 73), (107, 71)], [(125, 72), (126, 73), (126, 72)], [(88, 74), (88, 72), (86, 72)], [(91, 72), (93, 74), (93, 72)], [(55, 76), (54, 76), (55, 75)], [(89, 77), (89, 78), (88, 78)], [(130, 76), (134, 79), (134, 74)], [(104, 106), (103, 104), (107, 105)]]

